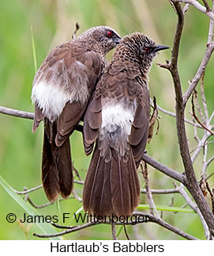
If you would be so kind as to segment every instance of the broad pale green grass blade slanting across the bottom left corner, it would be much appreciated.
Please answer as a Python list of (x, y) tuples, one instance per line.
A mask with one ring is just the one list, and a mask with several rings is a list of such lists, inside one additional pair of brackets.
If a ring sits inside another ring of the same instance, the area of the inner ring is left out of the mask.
[[(2, 185), (3, 189), (5, 189), (7, 193), (9, 193), (9, 196), (12, 197), (13, 200), (16, 201), (17, 204), (19, 204), (24, 209), (24, 211), (28, 213), (28, 215), (41, 216), (41, 214), (37, 212), (35, 208), (32, 208), (30, 204), (25, 202), (19, 195), (17, 195), (17, 193), (13, 191), (11, 186), (2, 178), (1, 175), (0, 175), (0, 185)], [(47, 235), (47, 234), (56, 233), (56, 230), (54, 229), (54, 227), (51, 226), (51, 224), (36, 223), (36, 226), (39, 227), (40, 231), (42, 231), (43, 234)], [(50, 238), (50, 239), (57, 240), (59, 238)]]

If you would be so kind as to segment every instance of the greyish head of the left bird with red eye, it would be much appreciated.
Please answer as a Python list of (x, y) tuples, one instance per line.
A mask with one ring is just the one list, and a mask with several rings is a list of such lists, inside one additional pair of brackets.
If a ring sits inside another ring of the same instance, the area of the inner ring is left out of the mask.
[(87, 40), (87, 44), (92, 50), (99, 52), (101, 55), (106, 55), (107, 52), (115, 48), (121, 37), (114, 29), (107, 26), (97, 26), (86, 30), (78, 39)]

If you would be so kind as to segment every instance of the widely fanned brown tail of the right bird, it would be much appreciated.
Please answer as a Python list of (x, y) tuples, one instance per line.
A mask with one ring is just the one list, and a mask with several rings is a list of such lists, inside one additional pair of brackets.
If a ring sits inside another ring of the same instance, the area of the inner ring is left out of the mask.
[(105, 162), (96, 146), (84, 181), (83, 207), (96, 216), (131, 216), (140, 203), (140, 183), (132, 151), (126, 162), (111, 148), (111, 160)]

